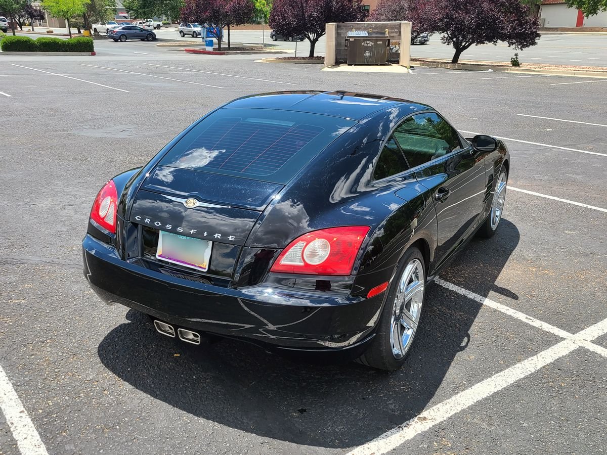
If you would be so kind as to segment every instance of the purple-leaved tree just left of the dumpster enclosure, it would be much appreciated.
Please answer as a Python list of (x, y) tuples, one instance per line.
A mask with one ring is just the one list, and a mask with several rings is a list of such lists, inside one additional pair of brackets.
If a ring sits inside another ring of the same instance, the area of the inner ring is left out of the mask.
[(360, 22), (366, 17), (362, 0), (274, 0), (270, 27), (280, 35), (304, 36), (313, 57), (327, 22)]

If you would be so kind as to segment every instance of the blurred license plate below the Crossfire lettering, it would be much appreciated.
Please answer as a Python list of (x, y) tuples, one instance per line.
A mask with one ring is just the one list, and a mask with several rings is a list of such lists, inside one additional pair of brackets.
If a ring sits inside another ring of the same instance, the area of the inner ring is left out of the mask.
[(206, 272), (211, 259), (212, 241), (160, 231), (156, 257), (184, 267)]

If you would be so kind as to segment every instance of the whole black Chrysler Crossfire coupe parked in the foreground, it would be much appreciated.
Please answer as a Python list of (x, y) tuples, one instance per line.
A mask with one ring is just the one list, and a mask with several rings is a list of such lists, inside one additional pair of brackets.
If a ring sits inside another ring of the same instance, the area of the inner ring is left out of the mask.
[(510, 156), (426, 104), (350, 92), (245, 96), (99, 192), (84, 275), (157, 331), (340, 352), (399, 368), (426, 286), (493, 235)]

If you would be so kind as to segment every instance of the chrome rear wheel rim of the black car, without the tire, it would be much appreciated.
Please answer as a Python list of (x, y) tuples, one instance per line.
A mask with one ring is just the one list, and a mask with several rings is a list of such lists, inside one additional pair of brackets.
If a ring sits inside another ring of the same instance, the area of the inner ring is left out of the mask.
[(413, 342), (424, 303), (425, 283), (424, 266), (413, 259), (402, 272), (392, 309), (390, 344), (396, 360), (407, 354)]

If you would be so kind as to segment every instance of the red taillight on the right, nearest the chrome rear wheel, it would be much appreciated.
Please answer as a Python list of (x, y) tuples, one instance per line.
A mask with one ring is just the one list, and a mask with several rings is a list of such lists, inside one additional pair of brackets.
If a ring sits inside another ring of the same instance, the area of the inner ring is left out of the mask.
[(368, 226), (330, 227), (308, 232), (283, 249), (272, 272), (350, 275)]

